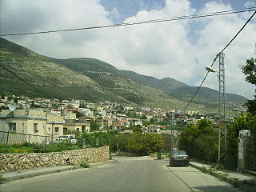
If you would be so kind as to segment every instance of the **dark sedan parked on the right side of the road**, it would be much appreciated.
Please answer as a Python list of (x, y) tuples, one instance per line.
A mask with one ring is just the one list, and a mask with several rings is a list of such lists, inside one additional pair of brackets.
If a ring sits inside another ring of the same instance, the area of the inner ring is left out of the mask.
[(189, 166), (190, 158), (184, 150), (176, 150), (170, 154), (170, 166)]

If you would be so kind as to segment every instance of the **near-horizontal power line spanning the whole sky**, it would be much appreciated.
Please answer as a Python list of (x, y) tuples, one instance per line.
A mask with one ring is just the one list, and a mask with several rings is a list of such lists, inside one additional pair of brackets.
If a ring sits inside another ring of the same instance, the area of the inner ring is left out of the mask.
[(256, 10), (256, 7), (249, 7), (243, 10), (224, 10), (224, 11), (218, 11), (218, 12), (213, 12), (208, 14), (187, 15), (187, 16), (179, 16), (174, 18), (146, 20), (142, 22), (124, 22), (124, 23), (119, 23), (119, 24), (114, 24), (109, 26), (89, 26), (89, 27), (66, 29), (66, 30), (47, 30), (47, 31), (30, 32), (30, 33), (0, 34), (0, 37), (28, 35), (28, 34), (49, 34), (49, 33), (57, 33), (57, 32), (75, 31), (75, 30), (93, 30), (93, 29), (102, 29), (102, 28), (110, 28), (110, 27), (117, 27), (117, 26), (134, 26), (134, 25), (142, 25), (142, 24), (154, 23), (154, 22), (171, 22), (171, 21), (185, 20), (185, 19), (191, 19), (191, 18), (206, 18), (206, 17), (213, 17), (213, 16), (219, 16), (219, 15), (225, 15), (225, 14), (238, 14), (238, 13), (254, 11), (254, 10)]

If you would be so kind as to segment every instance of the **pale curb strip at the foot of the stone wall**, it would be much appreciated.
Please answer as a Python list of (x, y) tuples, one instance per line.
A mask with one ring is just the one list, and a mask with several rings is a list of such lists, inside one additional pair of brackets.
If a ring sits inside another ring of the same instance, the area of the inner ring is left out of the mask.
[[(109, 160), (106, 162), (94, 162), (94, 163), (89, 163), (89, 166), (90, 167), (101, 166), (101, 165), (112, 163), (112, 162), (116, 162), (116, 161)], [(67, 170), (84, 169), (84, 168), (82, 168), (82, 166), (78, 166), (78, 165), (77, 166), (66, 166), (66, 167), (62, 166), (59, 168), (57, 168), (57, 167), (56, 166), (42, 167), (42, 169), (46, 168), (46, 170), (25, 170), (25, 171), (27, 171), (27, 173), (22, 172), (22, 170), (18, 170), (13, 175), (6, 176), (5, 174), (2, 174), (2, 177), (5, 182), (10, 182), (10, 181), (14, 181), (14, 180), (22, 179), (22, 178), (33, 178), (33, 177), (44, 175), (44, 174), (54, 174), (54, 173), (60, 173), (60, 172), (67, 171)]]

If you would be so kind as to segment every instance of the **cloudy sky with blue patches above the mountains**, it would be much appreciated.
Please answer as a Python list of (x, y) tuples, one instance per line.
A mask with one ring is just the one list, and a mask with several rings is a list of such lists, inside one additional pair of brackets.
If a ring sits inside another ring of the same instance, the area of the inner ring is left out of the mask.
[[(240, 10), (250, 0), (0, 0), (0, 34), (105, 26), (158, 18)], [(253, 12), (136, 26), (6, 36), (52, 58), (98, 58), (119, 70), (175, 78), (199, 86), (216, 54)], [(226, 92), (253, 98), (240, 66), (255, 58), (256, 16), (225, 50)], [(218, 62), (214, 63), (218, 70)], [(216, 74), (203, 86), (218, 90)]]

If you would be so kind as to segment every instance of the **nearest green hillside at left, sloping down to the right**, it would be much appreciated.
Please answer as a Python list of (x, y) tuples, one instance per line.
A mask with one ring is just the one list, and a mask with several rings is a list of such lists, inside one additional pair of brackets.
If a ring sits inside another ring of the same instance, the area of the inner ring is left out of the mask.
[(0, 71), (0, 89), (13, 94), (25, 94), (50, 98), (86, 98), (90, 101), (98, 99), (115, 99), (117, 102), (129, 102), (97, 82), (70, 70), (49, 58), (36, 54), (23, 46), (18, 46), (4, 38), (0, 38), (0, 62), (12, 73), (42, 90), (38, 92), (33, 87), (21, 81), (6, 70)]

